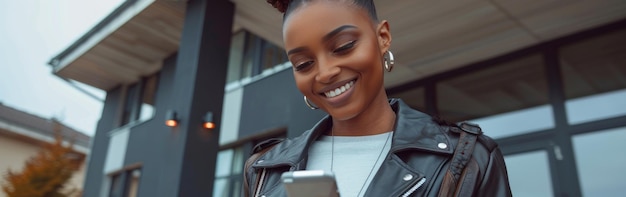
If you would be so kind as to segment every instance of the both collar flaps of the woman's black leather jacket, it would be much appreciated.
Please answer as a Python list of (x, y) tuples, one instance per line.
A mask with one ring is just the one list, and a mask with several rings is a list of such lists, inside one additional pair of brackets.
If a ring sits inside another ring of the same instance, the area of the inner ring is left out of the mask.
[[(391, 153), (404, 150), (418, 150), (441, 154), (452, 154), (453, 147), (445, 127), (439, 126), (431, 120), (431, 117), (411, 109), (400, 99), (390, 99), (394, 112), (396, 112), (396, 123), (394, 136), (392, 138)], [(267, 154), (263, 155), (262, 163), (257, 163), (253, 167), (272, 166), (292, 166), (304, 168), (308, 149), (311, 144), (325, 131), (332, 123), (330, 116), (324, 117), (315, 126), (293, 140), (285, 140), (276, 145)], [(443, 146), (443, 144), (445, 146)], [(304, 166), (300, 166), (304, 165)]]

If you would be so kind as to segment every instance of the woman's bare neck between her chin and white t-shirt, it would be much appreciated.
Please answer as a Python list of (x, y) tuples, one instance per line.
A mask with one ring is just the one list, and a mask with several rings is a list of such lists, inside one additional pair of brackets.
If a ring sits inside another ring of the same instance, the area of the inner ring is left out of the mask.
[(359, 115), (348, 120), (333, 119), (333, 132), (337, 136), (375, 135), (393, 130), (396, 114), (391, 109), (382, 90), (379, 98)]

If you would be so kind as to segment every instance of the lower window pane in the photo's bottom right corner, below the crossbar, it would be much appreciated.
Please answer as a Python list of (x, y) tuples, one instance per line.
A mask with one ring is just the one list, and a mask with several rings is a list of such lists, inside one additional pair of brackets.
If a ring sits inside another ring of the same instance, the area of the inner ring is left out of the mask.
[(576, 166), (583, 196), (624, 196), (626, 127), (576, 135)]

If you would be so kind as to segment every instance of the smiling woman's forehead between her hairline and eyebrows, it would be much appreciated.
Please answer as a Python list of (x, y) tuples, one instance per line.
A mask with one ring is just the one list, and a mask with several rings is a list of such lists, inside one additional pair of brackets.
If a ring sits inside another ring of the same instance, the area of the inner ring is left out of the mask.
[(285, 48), (299, 47), (302, 42), (318, 41), (326, 33), (342, 25), (373, 29), (367, 11), (341, 1), (313, 1), (294, 10), (283, 24)]

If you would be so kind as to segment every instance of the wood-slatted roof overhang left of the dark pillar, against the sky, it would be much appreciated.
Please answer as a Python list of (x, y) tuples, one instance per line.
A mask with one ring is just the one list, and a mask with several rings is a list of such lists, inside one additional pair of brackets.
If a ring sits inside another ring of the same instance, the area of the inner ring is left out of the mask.
[(161, 69), (178, 50), (186, 3), (129, 0), (50, 61), (60, 77), (110, 90)]

